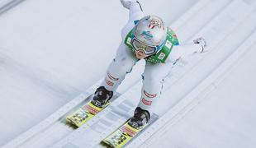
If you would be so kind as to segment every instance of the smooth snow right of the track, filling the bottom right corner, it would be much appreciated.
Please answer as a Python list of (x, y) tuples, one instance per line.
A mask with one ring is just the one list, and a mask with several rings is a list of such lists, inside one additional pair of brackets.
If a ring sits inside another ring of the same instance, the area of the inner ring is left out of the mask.
[(152, 147), (255, 147), (254, 49), (255, 44), (197, 108), (162, 132), (165, 142), (151, 138)]

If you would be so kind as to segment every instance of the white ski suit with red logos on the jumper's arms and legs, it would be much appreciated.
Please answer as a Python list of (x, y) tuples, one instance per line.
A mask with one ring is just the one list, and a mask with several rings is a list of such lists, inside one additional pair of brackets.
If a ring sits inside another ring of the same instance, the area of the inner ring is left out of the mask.
[[(137, 2), (131, 3), (129, 21), (121, 31), (121, 44), (117, 49), (116, 57), (107, 69), (105, 80), (102, 81), (101, 86), (104, 86), (107, 90), (115, 91), (121, 84), (121, 81), (124, 80), (126, 74), (131, 72), (132, 67), (139, 61), (135, 53), (132, 53), (124, 44), (124, 40), (129, 31), (135, 26), (134, 21), (138, 21), (142, 17), (144, 17), (144, 14), (140, 9), (140, 4)], [(138, 106), (151, 113), (152, 104), (159, 100), (164, 78), (168, 75), (173, 63), (178, 58), (184, 58), (187, 54), (200, 53), (201, 48), (200, 44), (173, 46), (173, 50), (165, 63), (146, 62), (145, 72), (142, 74), (143, 86)]]

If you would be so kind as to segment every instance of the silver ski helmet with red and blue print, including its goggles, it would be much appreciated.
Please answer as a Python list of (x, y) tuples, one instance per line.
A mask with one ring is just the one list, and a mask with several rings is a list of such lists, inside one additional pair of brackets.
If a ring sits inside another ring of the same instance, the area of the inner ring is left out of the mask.
[(164, 47), (167, 28), (159, 16), (145, 16), (132, 30), (131, 44), (135, 50), (143, 50), (146, 55), (153, 55)]

